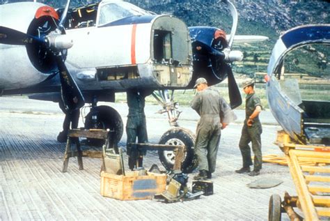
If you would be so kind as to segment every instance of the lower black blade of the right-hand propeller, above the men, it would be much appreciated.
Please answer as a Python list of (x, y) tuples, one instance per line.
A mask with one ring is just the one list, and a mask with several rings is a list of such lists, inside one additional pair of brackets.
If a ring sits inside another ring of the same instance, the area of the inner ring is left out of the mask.
[(242, 105), (242, 96), (239, 93), (239, 88), (237, 86), (233, 70), (231, 67), (227, 65), (227, 73), (228, 73), (228, 93), (229, 93), (229, 100), (230, 100), (230, 107), (235, 109), (239, 105)]

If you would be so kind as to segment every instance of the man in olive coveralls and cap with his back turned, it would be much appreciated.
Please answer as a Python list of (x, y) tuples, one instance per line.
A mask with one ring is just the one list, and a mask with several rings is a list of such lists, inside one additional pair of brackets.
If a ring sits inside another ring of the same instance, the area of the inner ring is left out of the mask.
[(191, 108), (201, 116), (196, 129), (194, 148), (198, 159), (199, 174), (194, 179), (200, 180), (212, 178), (217, 162), (221, 129), (226, 128), (229, 123), (224, 121), (225, 116), (233, 113), (219, 92), (207, 86), (205, 78), (198, 78), (194, 88), (198, 93), (191, 101)]

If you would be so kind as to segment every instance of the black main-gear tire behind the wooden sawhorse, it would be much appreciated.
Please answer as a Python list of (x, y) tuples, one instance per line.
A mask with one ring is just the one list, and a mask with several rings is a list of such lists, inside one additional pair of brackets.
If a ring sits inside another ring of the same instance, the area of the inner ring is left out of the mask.
[[(114, 143), (117, 144), (121, 137), (123, 137), (123, 120), (120, 114), (109, 106), (97, 106), (94, 107), (97, 112), (97, 123), (96, 125), (92, 121), (92, 114), (89, 112), (85, 119), (86, 129), (110, 129), (114, 130)], [(91, 145), (102, 146), (104, 142), (100, 139), (88, 139)]]

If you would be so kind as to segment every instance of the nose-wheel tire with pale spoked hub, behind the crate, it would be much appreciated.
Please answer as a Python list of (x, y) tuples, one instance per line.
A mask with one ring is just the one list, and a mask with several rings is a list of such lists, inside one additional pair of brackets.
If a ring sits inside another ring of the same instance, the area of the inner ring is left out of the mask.
[[(171, 128), (167, 130), (159, 140), (159, 144), (170, 144), (186, 146), (184, 160), (181, 165), (182, 172), (189, 174), (198, 166), (197, 158), (194, 153), (195, 135), (190, 130), (184, 128)], [(175, 155), (173, 151), (158, 151), (159, 160), (167, 170), (173, 169)]]

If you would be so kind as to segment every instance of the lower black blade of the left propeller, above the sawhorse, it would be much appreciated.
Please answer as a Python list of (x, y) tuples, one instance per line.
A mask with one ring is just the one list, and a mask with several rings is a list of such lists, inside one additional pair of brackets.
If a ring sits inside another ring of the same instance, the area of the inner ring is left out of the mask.
[(60, 71), (62, 100), (65, 109), (72, 112), (85, 105), (84, 96), (82, 96), (76, 82), (74, 82), (68, 68), (66, 68), (61, 54), (56, 55), (56, 62)]

